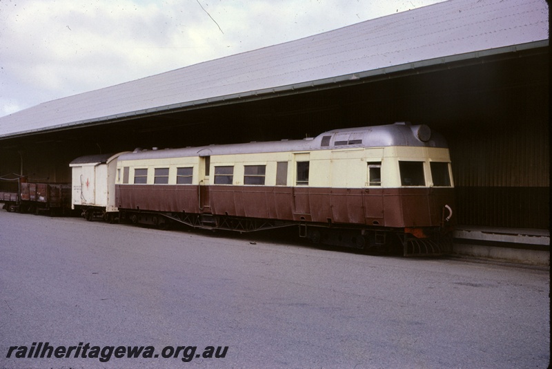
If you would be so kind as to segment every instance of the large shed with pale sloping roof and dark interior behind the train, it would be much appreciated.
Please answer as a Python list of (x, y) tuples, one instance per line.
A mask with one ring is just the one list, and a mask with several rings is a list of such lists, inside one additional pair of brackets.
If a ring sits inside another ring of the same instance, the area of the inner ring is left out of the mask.
[(410, 121), (449, 140), (461, 224), (548, 229), (548, 30), (544, 0), (449, 0), (43, 102), (0, 117), (0, 176)]

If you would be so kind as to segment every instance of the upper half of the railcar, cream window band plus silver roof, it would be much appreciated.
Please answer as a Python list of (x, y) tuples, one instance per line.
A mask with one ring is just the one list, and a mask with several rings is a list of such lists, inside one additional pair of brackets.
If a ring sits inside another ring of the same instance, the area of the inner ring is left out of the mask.
[(409, 124), (335, 130), (307, 140), (135, 151), (117, 162), (118, 184), (175, 185), (184, 183), (183, 173), (189, 185), (453, 186), (442, 136)]

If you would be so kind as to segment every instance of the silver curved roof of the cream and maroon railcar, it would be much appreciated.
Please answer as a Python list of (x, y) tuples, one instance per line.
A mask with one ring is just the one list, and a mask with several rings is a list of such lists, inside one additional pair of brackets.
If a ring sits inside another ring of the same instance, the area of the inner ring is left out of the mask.
[(303, 152), (351, 147), (426, 146), (447, 147), (440, 133), (428, 126), (408, 123), (335, 129), (315, 138), (245, 144), (221, 144), (186, 147), (184, 149), (136, 150), (119, 156), (119, 160), (182, 158), (188, 156), (233, 155), (246, 153)]

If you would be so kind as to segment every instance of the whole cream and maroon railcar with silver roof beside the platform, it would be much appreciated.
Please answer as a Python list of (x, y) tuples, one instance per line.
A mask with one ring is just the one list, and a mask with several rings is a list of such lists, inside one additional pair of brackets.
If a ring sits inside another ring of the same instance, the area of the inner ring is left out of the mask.
[[(337, 129), (304, 140), (136, 150), (117, 160), (122, 219), (255, 231), (299, 226), (315, 243), (442, 253), (453, 180), (428, 126)], [(398, 237), (396, 237), (398, 236)]]

